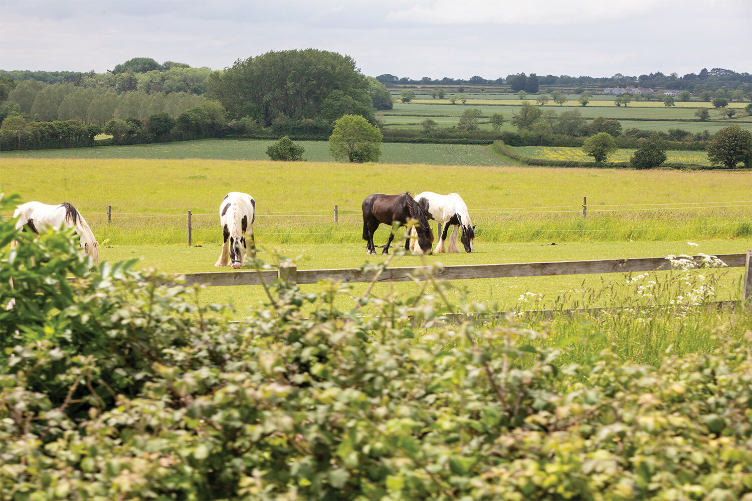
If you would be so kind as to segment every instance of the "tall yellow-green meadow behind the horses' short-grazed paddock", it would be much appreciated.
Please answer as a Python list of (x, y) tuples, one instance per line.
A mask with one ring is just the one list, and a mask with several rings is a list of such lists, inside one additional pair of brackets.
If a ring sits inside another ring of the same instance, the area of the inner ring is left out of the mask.
[[(193, 241), (218, 242), (217, 207), (230, 191), (256, 198), (254, 228), (270, 243), (359, 243), (366, 195), (425, 190), (462, 195), (481, 242), (734, 238), (752, 231), (749, 172), (196, 158), (4, 158), (2, 164), (3, 191), (26, 201), (69, 201), (100, 241), (117, 244), (186, 242), (188, 210)], [(54, 183), (47, 182), (51, 173)]]

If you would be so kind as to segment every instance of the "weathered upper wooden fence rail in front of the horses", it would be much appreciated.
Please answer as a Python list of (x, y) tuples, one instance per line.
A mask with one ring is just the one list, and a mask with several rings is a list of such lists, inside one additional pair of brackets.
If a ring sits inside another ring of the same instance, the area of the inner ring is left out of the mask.
[[(720, 254), (716, 257), (729, 267), (745, 267), (744, 302), (752, 301), (752, 250), (741, 254)], [(693, 256), (693, 261), (702, 262), (702, 256)], [(377, 282), (407, 282), (412, 277), (425, 275), (427, 267), (394, 267), (382, 271)], [(554, 261), (550, 263), (468, 264), (446, 266), (436, 270), (439, 279), (493, 279), (512, 276), (581, 275), (586, 273), (627, 273), (630, 271), (671, 270), (667, 258), (599, 259), (591, 261)], [(295, 264), (282, 265), (278, 270), (225, 271), (218, 273), (190, 273), (185, 275), (186, 284), (205, 285), (261, 285), (274, 279), (285, 279), (298, 284), (314, 284), (320, 279), (340, 282), (371, 282), (376, 272), (357, 268), (334, 270), (298, 270)]]

